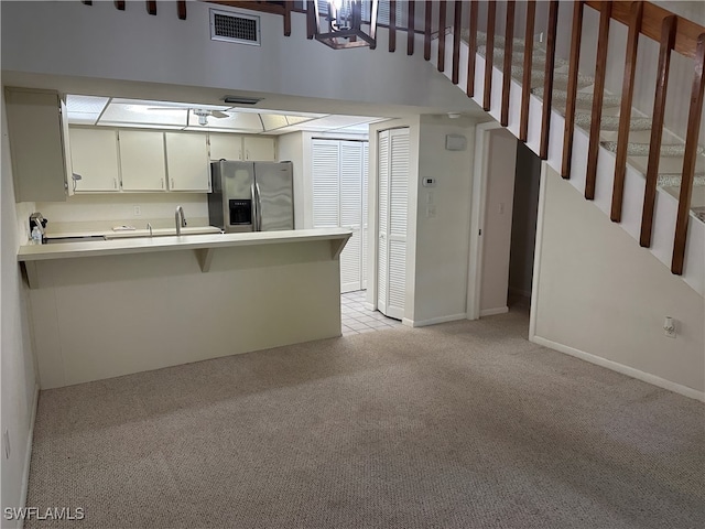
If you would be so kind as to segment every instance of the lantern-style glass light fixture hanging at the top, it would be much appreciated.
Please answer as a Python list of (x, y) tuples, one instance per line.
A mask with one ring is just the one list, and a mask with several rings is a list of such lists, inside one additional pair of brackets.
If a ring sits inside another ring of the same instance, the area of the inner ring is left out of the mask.
[(378, 0), (315, 0), (316, 40), (334, 50), (360, 46), (373, 50), (377, 7)]

